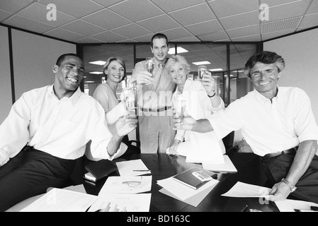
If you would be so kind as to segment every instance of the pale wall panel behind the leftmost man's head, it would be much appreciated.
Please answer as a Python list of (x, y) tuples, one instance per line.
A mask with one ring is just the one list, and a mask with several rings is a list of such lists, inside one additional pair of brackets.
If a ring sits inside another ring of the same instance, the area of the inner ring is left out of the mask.
[(52, 66), (59, 55), (76, 53), (76, 44), (12, 29), (16, 100), (22, 93), (54, 82)]

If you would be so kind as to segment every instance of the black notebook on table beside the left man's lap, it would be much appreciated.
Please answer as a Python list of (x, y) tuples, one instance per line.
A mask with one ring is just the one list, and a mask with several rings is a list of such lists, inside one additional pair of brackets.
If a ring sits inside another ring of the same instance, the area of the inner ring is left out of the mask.
[(118, 168), (110, 160), (99, 160), (86, 165), (85, 169), (88, 171), (84, 178), (93, 182), (97, 182), (99, 179), (108, 176), (110, 173), (116, 171)]

